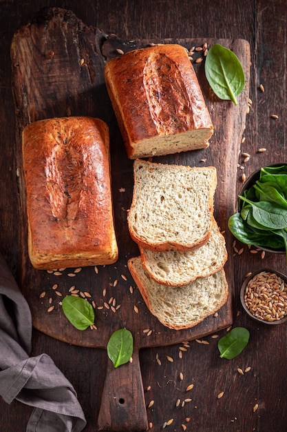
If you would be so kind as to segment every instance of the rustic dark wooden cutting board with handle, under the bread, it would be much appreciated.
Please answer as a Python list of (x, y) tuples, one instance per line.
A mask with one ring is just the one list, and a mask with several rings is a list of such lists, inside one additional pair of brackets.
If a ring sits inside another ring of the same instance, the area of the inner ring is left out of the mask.
[[(150, 43), (180, 43), (186, 48), (222, 43), (235, 52), (246, 75), (246, 88), (238, 105), (220, 101), (213, 95), (204, 75), (204, 56), (196, 51), (193, 59), (215, 133), (204, 150), (155, 157), (153, 161), (190, 166), (215, 166), (215, 219), (225, 232), (228, 248), (226, 277), (228, 301), (217, 316), (206, 318), (193, 328), (172, 331), (149, 313), (127, 270), (127, 259), (138, 255), (127, 229), (127, 210), (133, 191), (133, 161), (127, 159), (114, 111), (105, 88), (103, 68), (111, 57), (142, 48)], [(176, 344), (220, 331), (233, 322), (232, 237), (228, 217), (235, 211), (237, 160), (244, 132), (250, 68), (247, 41), (229, 39), (162, 39), (122, 41), (115, 35), (85, 26), (73, 12), (60, 8), (41, 10), (27, 26), (14, 35), (11, 46), (12, 81), (17, 115), (16, 164), (19, 175), (19, 263), (18, 282), (32, 312), (33, 326), (58, 340), (79, 346), (105, 348), (111, 333), (128, 328), (134, 335), (133, 362), (114, 369), (108, 362), (107, 379), (98, 419), (99, 430), (142, 431), (147, 415), (142, 390), (138, 351), (143, 347)], [(195, 62), (195, 59), (203, 61)], [(68, 268), (47, 273), (32, 268), (27, 252), (25, 184), (21, 159), (21, 132), (30, 122), (49, 117), (87, 115), (107, 122), (111, 139), (111, 177), (116, 234), (120, 257), (112, 266)], [(15, 194), (18, 191), (15, 190)], [(61, 299), (71, 287), (88, 293), (96, 304), (97, 330), (77, 331), (61, 310)], [(48, 308), (54, 306), (52, 312)], [(134, 395), (137, 397), (134, 397)]]

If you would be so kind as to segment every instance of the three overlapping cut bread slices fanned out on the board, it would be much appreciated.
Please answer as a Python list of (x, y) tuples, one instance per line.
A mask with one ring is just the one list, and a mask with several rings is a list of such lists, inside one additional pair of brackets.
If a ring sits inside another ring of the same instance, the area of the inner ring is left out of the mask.
[(169, 328), (193, 327), (226, 302), (227, 251), (213, 217), (216, 169), (134, 161), (128, 213), (140, 256), (129, 271), (149, 311)]

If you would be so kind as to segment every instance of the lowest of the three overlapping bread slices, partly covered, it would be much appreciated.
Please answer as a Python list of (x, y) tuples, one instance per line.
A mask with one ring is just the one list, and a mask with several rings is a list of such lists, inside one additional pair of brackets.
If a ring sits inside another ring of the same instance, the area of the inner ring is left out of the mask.
[(149, 311), (169, 328), (190, 328), (213, 315), (228, 297), (224, 269), (191, 284), (175, 287), (155, 282), (142, 267), (140, 257), (129, 259), (128, 268)]

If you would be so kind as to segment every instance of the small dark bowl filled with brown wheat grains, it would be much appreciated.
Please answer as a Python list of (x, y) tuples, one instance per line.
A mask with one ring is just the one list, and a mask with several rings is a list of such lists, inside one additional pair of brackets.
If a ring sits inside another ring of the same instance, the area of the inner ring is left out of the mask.
[(279, 271), (262, 268), (246, 277), (240, 300), (253, 320), (264, 324), (287, 321), (287, 276)]

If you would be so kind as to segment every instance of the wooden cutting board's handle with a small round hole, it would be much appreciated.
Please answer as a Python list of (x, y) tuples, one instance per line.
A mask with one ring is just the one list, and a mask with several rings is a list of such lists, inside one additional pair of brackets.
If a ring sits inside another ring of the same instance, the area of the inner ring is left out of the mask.
[(114, 368), (109, 360), (103, 388), (98, 431), (141, 432), (148, 429), (138, 350), (132, 362)]

